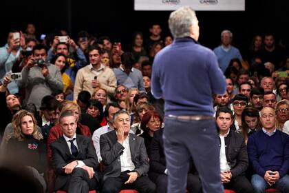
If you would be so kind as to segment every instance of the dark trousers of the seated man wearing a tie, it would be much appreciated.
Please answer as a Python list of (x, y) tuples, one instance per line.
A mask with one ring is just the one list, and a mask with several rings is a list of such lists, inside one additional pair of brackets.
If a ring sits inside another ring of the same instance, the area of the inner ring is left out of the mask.
[(67, 181), (63, 190), (69, 193), (87, 193), (89, 190), (96, 190), (97, 181), (96, 178), (89, 179), (88, 173), (86, 170), (83, 170), (81, 167), (74, 168), (72, 174), (70, 174), (70, 180)]

